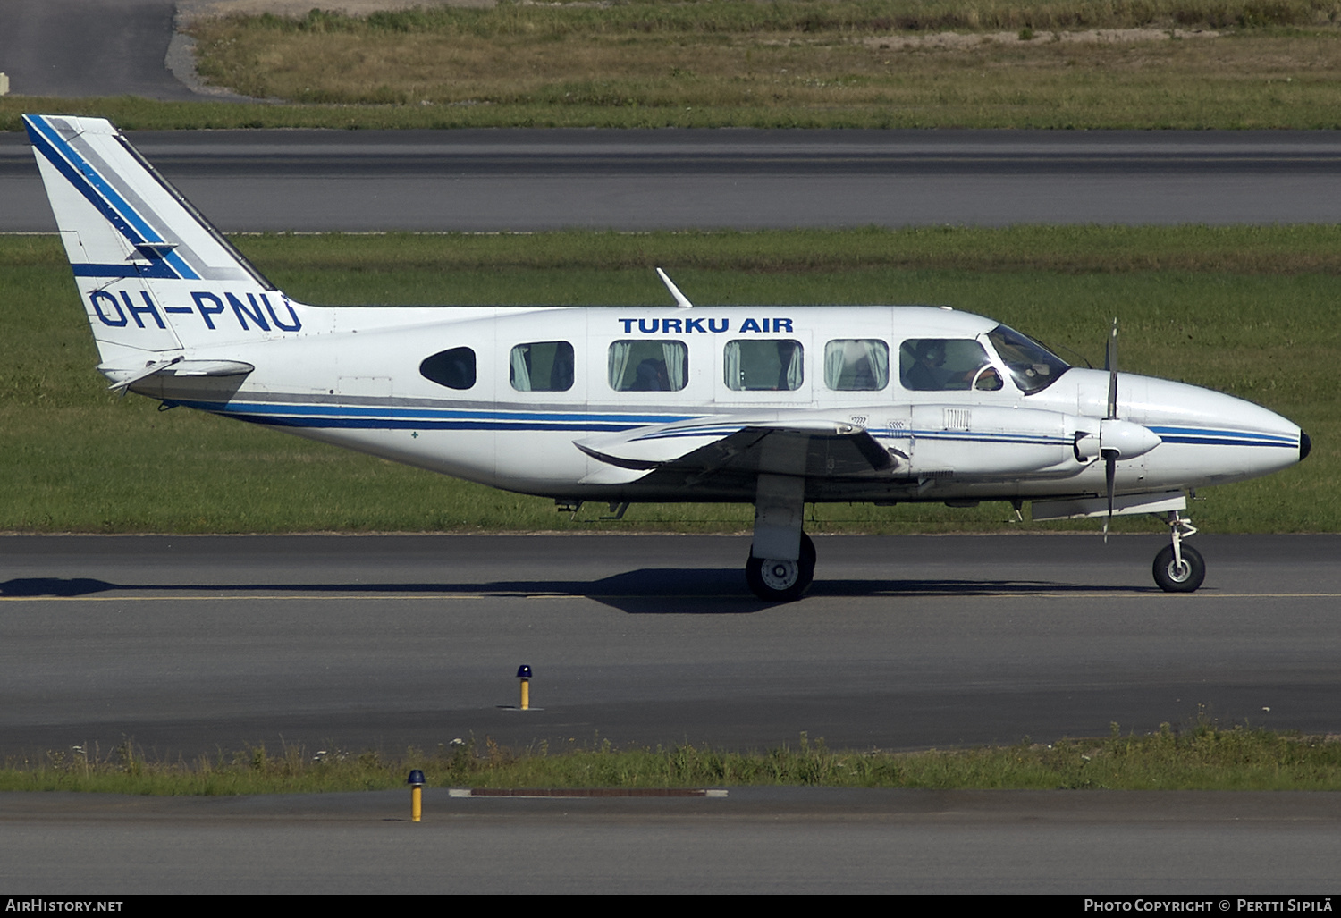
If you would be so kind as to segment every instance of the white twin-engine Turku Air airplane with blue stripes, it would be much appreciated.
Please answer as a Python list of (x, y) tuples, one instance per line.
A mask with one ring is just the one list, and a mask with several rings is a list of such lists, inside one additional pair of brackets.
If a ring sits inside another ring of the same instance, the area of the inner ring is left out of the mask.
[(561, 507), (748, 501), (764, 600), (811, 582), (806, 501), (1153, 513), (1155, 580), (1192, 591), (1184, 492), (1309, 453), (1263, 407), (1117, 373), (1116, 324), (1097, 371), (947, 308), (695, 307), (660, 269), (676, 307), (303, 306), (109, 122), (24, 121), (114, 390)]

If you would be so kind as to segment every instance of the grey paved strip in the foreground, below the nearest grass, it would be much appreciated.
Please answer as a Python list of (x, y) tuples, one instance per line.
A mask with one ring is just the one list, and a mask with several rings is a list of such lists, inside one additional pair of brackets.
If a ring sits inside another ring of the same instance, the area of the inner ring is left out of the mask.
[(1077, 897), (1054, 903), (1075, 913), (1078, 897), (1200, 894), (1208, 910), (1236, 914), (1244, 895), (1275, 897), (1279, 911), (1286, 897), (1326, 906), (1341, 860), (1334, 793), (732, 788), (716, 799), (500, 800), (428, 788), (424, 822), (408, 815), (406, 791), (0, 793), (0, 886), (111, 899), (1055, 893)]

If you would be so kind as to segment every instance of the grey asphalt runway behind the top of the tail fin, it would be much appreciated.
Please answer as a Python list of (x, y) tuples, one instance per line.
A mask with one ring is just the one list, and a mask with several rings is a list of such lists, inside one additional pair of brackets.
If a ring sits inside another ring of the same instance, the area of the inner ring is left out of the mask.
[[(1341, 218), (1337, 131), (134, 133), (228, 232), (652, 231)], [(0, 232), (51, 232), (0, 135)]]

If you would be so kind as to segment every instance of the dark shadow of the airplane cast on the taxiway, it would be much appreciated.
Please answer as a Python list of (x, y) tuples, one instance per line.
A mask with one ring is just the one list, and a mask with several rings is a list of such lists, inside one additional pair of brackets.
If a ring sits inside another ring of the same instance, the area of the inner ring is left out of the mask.
[[(489, 583), (111, 583), (93, 578), (23, 578), (0, 583), (5, 599), (156, 595), (461, 595), (585, 598), (637, 615), (720, 615), (776, 608), (750, 595), (744, 576), (720, 568), (641, 568), (601, 580), (495, 580)], [(1037, 596), (1157, 592), (1155, 587), (1094, 586), (1051, 580), (815, 580), (809, 598)]]

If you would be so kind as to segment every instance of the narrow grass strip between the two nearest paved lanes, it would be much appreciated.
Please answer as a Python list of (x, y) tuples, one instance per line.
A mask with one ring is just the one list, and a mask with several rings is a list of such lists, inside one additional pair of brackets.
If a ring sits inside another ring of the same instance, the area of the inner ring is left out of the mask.
[(799, 785), (845, 788), (1338, 791), (1341, 738), (1169, 724), (1156, 733), (1014, 746), (889, 753), (830, 750), (801, 734), (797, 748), (723, 752), (676, 746), (510, 750), (485, 740), (453, 741), (404, 756), (255, 746), (193, 763), (146, 760), (131, 741), (47, 752), (0, 768), (0, 791), (97, 791), (227, 796), (394, 789), (420, 768), (429, 787), (705, 788)]

